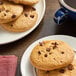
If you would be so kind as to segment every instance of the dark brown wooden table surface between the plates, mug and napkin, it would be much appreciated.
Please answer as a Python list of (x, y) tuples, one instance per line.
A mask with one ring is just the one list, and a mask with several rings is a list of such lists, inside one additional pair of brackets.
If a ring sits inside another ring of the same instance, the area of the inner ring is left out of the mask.
[(11, 55), (14, 54), (18, 56), (18, 68), (16, 76), (21, 76), (20, 74), (20, 60), (27, 49), (27, 47), (34, 41), (49, 35), (71, 35), (76, 36), (76, 22), (67, 20), (62, 25), (57, 25), (53, 21), (53, 15), (55, 11), (59, 8), (58, 0), (46, 0), (46, 13), (39, 24), (39, 26), (28, 36), (16, 42), (1, 45), (0, 54), (1, 55)]

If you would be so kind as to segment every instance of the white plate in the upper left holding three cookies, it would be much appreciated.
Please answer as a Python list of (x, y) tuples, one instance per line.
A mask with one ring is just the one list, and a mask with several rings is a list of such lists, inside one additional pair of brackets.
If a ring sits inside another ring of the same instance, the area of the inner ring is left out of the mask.
[(38, 12), (38, 20), (36, 22), (36, 25), (33, 28), (31, 28), (29, 31), (23, 33), (11, 33), (0, 28), (0, 45), (10, 43), (23, 38), (24, 36), (31, 33), (39, 25), (45, 13), (45, 0), (40, 0), (39, 3), (36, 4), (34, 7)]

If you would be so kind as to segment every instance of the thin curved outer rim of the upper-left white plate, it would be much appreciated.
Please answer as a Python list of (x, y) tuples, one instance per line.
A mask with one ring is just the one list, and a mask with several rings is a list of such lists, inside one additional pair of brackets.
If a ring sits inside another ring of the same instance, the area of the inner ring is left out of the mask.
[(43, 12), (42, 12), (42, 16), (40, 17), (38, 23), (35, 24), (35, 27), (33, 27), (33, 28), (31, 28), (30, 30), (28, 30), (29, 32), (27, 32), (27, 34), (22, 35), (21, 37), (18, 37), (18, 38), (16, 38), (16, 39), (13, 39), (13, 40), (10, 40), (10, 41), (0, 43), (0, 45), (5, 45), (5, 44), (9, 44), (9, 43), (18, 41), (18, 40), (24, 38), (25, 36), (29, 35), (32, 31), (34, 31), (34, 30), (38, 27), (38, 25), (40, 24), (41, 20), (42, 20), (43, 17), (44, 17), (45, 10), (46, 10), (46, 1), (45, 1), (45, 0), (42, 0), (42, 2), (43, 2), (43, 5), (44, 5), (44, 7), (43, 7)]

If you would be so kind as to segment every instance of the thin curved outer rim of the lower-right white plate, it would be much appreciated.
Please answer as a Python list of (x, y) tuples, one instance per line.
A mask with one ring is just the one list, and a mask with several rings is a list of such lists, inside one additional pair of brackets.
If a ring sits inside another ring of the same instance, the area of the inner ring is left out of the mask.
[[(22, 63), (23, 63), (23, 60), (24, 60), (24, 57), (25, 57), (25, 54), (26, 54), (26, 51), (29, 49), (29, 48), (31, 48), (31, 46), (33, 46), (34, 44), (36, 44), (36, 43), (38, 43), (38, 42), (40, 42), (40, 41), (42, 41), (42, 40), (47, 40), (47, 38), (49, 38), (49, 37), (55, 37), (55, 36), (63, 36), (63, 37), (70, 37), (70, 38), (72, 38), (72, 39), (75, 39), (75, 37), (73, 37), (73, 36), (69, 36), (69, 35), (51, 35), (51, 36), (45, 36), (45, 37), (42, 37), (42, 38), (40, 38), (40, 39), (38, 39), (38, 40), (36, 40), (36, 41), (34, 41), (32, 44), (30, 44), (28, 47), (27, 47), (27, 49), (24, 51), (24, 53), (23, 53), (23, 55), (22, 55), (22, 57), (21, 57), (21, 62), (20, 62), (20, 72), (21, 72), (21, 75), (22, 76), (24, 76), (24, 73), (23, 73), (23, 69), (22, 69)], [(75, 39), (76, 40), (76, 39)]]

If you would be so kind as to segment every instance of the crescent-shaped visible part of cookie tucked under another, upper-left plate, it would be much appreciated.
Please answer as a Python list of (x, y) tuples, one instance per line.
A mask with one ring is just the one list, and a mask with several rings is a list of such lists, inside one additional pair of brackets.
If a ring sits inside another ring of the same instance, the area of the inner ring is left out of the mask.
[(26, 6), (24, 12), (17, 20), (1, 25), (10, 32), (24, 32), (31, 29), (36, 24), (37, 18), (38, 14), (36, 9), (31, 6)]

